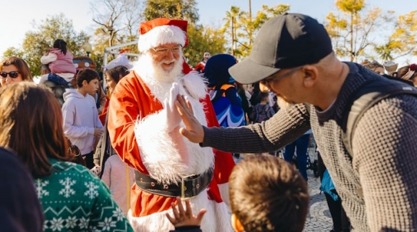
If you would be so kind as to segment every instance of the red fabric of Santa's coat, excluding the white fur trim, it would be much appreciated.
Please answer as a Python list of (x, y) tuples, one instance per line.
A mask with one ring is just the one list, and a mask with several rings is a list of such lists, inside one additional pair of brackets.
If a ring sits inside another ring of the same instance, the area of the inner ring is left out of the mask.
[[(204, 109), (206, 109), (208, 126), (218, 126), (209, 96), (202, 102), (205, 105)], [(155, 100), (146, 84), (133, 71), (117, 83), (115, 91), (110, 98), (109, 107), (112, 110), (108, 112), (108, 134), (113, 148), (128, 165), (141, 173), (148, 174), (136, 143), (135, 120), (145, 118), (148, 114), (154, 114), (161, 110), (163, 108), (162, 104)], [(222, 202), (217, 184), (227, 182), (234, 165), (234, 162), (231, 164), (229, 160), (233, 160), (231, 154), (215, 151), (215, 165), (220, 166), (215, 167), (213, 182), (210, 184), (207, 192), (210, 198), (216, 202)], [(222, 162), (225, 162), (225, 164), (222, 164)], [(231, 166), (226, 167), (226, 164)], [(171, 208), (172, 202), (175, 202), (175, 198), (166, 198), (148, 193), (139, 189), (136, 184), (133, 184), (130, 208), (134, 217), (166, 211)]]

